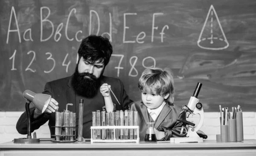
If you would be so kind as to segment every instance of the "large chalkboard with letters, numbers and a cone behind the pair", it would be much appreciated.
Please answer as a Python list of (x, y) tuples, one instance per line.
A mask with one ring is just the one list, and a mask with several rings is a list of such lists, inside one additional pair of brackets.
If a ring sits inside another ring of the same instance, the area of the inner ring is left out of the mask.
[(256, 111), (255, 0), (1, 0), (0, 111), (23, 111), (24, 90), (72, 75), (90, 34), (111, 40), (104, 75), (120, 78), (134, 101), (143, 70), (169, 66), (175, 104), (201, 82), (205, 112)]

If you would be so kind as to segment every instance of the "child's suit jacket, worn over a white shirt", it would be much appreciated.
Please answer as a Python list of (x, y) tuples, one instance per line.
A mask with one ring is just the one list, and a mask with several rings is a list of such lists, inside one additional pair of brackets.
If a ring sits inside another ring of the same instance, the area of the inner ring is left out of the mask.
[[(147, 130), (147, 123), (150, 122), (151, 118), (151, 116), (148, 114), (147, 107), (143, 104), (142, 101), (136, 101), (129, 104), (128, 109), (138, 112), (140, 140), (144, 141)], [(180, 112), (181, 108), (174, 104), (166, 103), (163, 107), (163, 110), (154, 121), (154, 128), (165, 132), (165, 137), (162, 140), (169, 140), (171, 137), (183, 137), (180, 135), (180, 130), (184, 124), (176, 121), (180, 115)], [(180, 118), (186, 119), (186, 113), (183, 113)]]

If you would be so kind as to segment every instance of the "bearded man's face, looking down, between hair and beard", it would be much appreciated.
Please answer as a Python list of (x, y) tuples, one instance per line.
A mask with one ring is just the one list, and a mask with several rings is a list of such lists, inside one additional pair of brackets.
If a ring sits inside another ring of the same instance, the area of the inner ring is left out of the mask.
[[(85, 60), (83, 57), (80, 58), (78, 64), (78, 72), (79, 73), (89, 73), (95, 76), (98, 79), (104, 70), (104, 63), (99, 60), (94, 64), (91, 64), (90, 61)], [(90, 78), (89, 76), (85, 76), (86, 78)]]

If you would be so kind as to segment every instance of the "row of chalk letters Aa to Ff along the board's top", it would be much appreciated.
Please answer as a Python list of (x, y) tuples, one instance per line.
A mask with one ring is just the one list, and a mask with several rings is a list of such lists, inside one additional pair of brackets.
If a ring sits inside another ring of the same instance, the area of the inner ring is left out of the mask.
[[(44, 12), (47, 12), (47, 15), (43, 14), (43, 10)], [(65, 24), (65, 37), (67, 38), (67, 40), (69, 41), (73, 41), (74, 38), (68, 36), (68, 25), (69, 25), (69, 22), (70, 22), (70, 16), (71, 14), (75, 14), (76, 13), (76, 9), (73, 8), (68, 17), (67, 17), (67, 22)], [(95, 15), (94, 15), (95, 14)], [(49, 20), (49, 17), (51, 15), (51, 10), (49, 9), (49, 7), (47, 6), (42, 6), (40, 8), (40, 24), (41, 24), (41, 35), (40, 35), (40, 41), (41, 42), (46, 42), (47, 40), (51, 39), (52, 36), (54, 36), (54, 40), (55, 42), (58, 42), (60, 39), (61, 39), (61, 30), (63, 29), (64, 27), (64, 23), (60, 23), (58, 24), (56, 30), (54, 28), (54, 24), (51, 20)], [(97, 18), (97, 32), (96, 32), (96, 35), (99, 35), (99, 31), (100, 31), (100, 18), (99, 18), (99, 14), (95, 11), (95, 10), (90, 10), (90, 21), (89, 21), (89, 35), (92, 34), (92, 29), (93, 29), (93, 26), (92, 25), (96, 25), (95, 23), (92, 22), (92, 17), (96, 16)], [(128, 26), (128, 24), (126, 23), (126, 16), (128, 15), (137, 15), (136, 12), (134, 13), (124, 13), (123, 16), (124, 16), (124, 27), (123, 27), (123, 43), (144, 43), (144, 38), (146, 37), (146, 33), (145, 32), (140, 32), (137, 37), (136, 37), (136, 40), (126, 40), (126, 30), (130, 28), (130, 26)], [(154, 42), (154, 31), (155, 30), (158, 30), (158, 26), (157, 24), (155, 23), (155, 18), (156, 16), (161, 16), (163, 15), (163, 13), (153, 13), (153, 17), (152, 17), (152, 29), (151, 29), (151, 42)], [(15, 25), (16, 25), (16, 29), (11, 29), (11, 23), (12, 23), (12, 16), (14, 16), (14, 19), (15, 19)], [(109, 13), (109, 32), (103, 32), (102, 35), (109, 35), (109, 38), (110, 38), (110, 41), (112, 42), (112, 19), (111, 19), (111, 13)], [(52, 29), (51, 31), (51, 34), (47, 37), (44, 36), (44, 25), (50, 25), (50, 28)], [(166, 29), (169, 29), (169, 26), (168, 25), (164, 25), (162, 27), (162, 30), (161, 32), (159, 33), (160, 34), (160, 39), (161, 39), (161, 42), (163, 43), (163, 38), (164, 38), (164, 31)], [(16, 12), (15, 12), (15, 8), (14, 6), (12, 6), (12, 10), (11, 10), (11, 15), (10, 15), (10, 20), (9, 20), (9, 26), (8, 26), (8, 33), (7, 33), (7, 39), (6, 39), (6, 43), (8, 44), (9, 43), (9, 34), (10, 32), (15, 32), (17, 33), (18, 37), (19, 37), (19, 42), (21, 43), (21, 37), (20, 37), (20, 29), (19, 29), (19, 24), (18, 24), (18, 20), (17, 20), (17, 15), (16, 15)], [(26, 35), (27, 33), (29, 33), (29, 35)], [(83, 38), (84, 36), (82, 36), (83, 32), (81, 30), (78, 30), (75, 34), (75, 38), (76, 38), (76, 41), (77, 42), (81, 42), (81, 38)], [(80, 35), (80, 36), (79, 36)], [(29, 36), (29, 38), (26, 38), (26, 36)], [(23, 33), (23, 40), (24, 41), (33, 41), (32, 39), (32, 30), (31, 28), (29, 29), (26, 29), (25, 32)]]

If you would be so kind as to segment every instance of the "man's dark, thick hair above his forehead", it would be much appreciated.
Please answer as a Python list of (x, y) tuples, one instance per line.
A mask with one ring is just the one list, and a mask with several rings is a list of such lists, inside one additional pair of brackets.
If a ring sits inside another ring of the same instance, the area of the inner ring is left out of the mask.
[(96, 35), (89, 35), (84, 38), (79, 46), (79, 61), (81, 57), (94, 64), (96, 61), (103, 62), (106, 66), (112, 55), (112, 45), (108, 38)]

